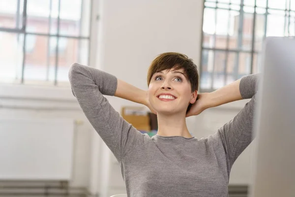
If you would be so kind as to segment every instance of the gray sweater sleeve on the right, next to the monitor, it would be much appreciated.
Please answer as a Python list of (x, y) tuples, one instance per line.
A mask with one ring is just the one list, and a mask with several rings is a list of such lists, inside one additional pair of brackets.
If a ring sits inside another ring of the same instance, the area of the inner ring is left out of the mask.
[(229, 161), (229, 169), (254, 139), (252, 131), (259, 76), (260, 74), (251, 74), (242, 77), (239, 85), (240, 94), (243, 99), (251, 100), (245, 104), (233, 120), (217, 132), (220, 134)]

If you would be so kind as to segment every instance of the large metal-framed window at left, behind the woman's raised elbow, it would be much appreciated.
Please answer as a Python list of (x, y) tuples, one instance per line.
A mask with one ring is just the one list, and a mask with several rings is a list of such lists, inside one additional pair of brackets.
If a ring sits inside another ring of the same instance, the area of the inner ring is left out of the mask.
[(92, 0), (0, 0), (0, 82), (68, 84), (88, 65)]

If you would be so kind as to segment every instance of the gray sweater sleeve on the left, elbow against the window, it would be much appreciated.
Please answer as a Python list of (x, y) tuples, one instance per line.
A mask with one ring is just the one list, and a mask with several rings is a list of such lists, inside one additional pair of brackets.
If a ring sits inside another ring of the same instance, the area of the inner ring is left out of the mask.
[(115, 95), (118, 80), (114, 75), (79, 64), (73, 64), (68, 75), (84, 114), (118, 161), (143, 144), (145, 135), (126, 122), (103, 96)]

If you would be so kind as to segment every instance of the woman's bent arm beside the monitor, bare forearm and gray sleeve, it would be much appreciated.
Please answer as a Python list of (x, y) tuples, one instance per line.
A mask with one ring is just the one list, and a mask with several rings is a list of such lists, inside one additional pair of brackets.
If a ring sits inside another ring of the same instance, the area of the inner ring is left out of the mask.
[(233, 120), (218, 130), (230, 167), (236, 158), (253, 141), (253, 117), (256, 103), (256, 92), (260, 74), (251, 74), (208, 94), (208, 106), (214, 107), (240, 99), (251, 99), (245, 104)]

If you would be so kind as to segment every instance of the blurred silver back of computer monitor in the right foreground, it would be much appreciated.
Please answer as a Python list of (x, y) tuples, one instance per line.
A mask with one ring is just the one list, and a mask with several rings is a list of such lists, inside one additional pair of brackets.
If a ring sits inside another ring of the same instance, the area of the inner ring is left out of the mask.
[(249, 197), (295, 197), (295, 38), (267, 37)]

